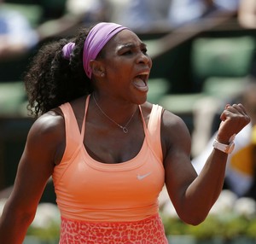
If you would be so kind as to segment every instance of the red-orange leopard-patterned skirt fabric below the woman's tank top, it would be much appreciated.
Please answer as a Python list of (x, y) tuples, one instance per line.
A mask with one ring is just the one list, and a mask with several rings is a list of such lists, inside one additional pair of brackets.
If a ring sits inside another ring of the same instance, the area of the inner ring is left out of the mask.
[(167, 244), (159, 215), (135, 222), (91, 223), (61, 218), (60, 244)]

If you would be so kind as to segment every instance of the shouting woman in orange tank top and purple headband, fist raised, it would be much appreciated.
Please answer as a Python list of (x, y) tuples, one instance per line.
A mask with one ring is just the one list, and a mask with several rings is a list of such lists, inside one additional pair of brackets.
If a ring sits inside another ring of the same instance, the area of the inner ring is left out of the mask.
[(167, 243), (157, 201), (164, 183), (184, 222), (207, 217), (224, 181), (218, 142), (228, 144), (250, 119), (241, 104), (225, 107), (197, 176), (182, 119), (146, 102), (151, 67), (146, 45), (114, 23), (38, 52), (25, 82), (31, 109), (43, 115), (3, 210), (1, 243), (22, 243), (51, 175), (60, 243)]

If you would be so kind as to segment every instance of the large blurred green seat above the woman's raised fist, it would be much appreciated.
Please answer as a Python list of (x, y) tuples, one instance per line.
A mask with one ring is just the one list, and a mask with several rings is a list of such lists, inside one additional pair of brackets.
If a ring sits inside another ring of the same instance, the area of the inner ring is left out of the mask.
[(195, 89), (200, 91), (207, 78), (246, 76), (252, 65), (254, 51), (253, 36), (195, 38), (191, 47)]

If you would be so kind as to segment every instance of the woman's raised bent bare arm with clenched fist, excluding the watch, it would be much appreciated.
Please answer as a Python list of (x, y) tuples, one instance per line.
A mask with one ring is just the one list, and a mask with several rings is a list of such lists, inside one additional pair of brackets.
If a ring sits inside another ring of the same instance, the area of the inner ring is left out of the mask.
[[(221, 119), (218, 141), (226, 144), (250, 121), (241, 105), (226, 107)], [(223, 188), (227, 154), (212, 149), (206, 165), (197, 176), (190, 163), (191, 142), (183, 121), (173, 117), (172, 113), (164, 113), (162, 138), (166, 155), (166, 189), (173, 206), (184, 222), (200, 224)]]

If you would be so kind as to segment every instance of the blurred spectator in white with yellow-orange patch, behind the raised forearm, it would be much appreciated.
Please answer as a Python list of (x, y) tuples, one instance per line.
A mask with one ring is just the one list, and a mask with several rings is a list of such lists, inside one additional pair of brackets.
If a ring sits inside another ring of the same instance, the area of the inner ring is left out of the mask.
[[(237, 97), (251, 117), (235, 139), (236, 147), (228, 157), (224, 188), (232, 190), (238, 197), (247, 196), (256, 200), (256, 79), (252, 78)], [(200, 173), (207, 155), (212, 151), (213, 135), (207, 147), (192, 160), (195, 170)]]

